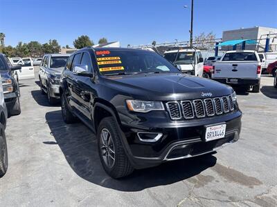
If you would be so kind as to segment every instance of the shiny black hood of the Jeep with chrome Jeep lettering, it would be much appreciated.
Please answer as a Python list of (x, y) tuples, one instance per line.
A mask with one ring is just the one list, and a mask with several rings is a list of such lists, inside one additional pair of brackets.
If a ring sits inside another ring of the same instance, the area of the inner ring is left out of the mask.
[(233, 89), (209, 79), (176, 74), (120, 75), (105, 77), (105, 84), (130, 96), (150, 100), (203, 99), (230, 95)]

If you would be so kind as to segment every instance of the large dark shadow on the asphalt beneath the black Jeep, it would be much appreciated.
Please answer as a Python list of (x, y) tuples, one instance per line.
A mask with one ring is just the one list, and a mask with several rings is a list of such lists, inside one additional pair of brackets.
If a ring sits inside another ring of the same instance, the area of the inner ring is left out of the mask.
[(93, 184), (120, 191), (139, 191), (183, 181), (216, 164), (216, 157), (206, 155), (171, 161), (161, 166), (135, 170), (122, 179), (112, 179), (102, 168), (98, 157), (96, 136), (84, 124), (64, 124), (61, 111), (46, 113), (51, 135), (60, 146), (74, 172)]

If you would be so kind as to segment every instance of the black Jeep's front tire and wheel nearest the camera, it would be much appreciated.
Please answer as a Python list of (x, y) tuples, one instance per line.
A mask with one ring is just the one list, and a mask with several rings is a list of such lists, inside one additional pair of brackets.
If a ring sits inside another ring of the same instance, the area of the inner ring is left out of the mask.
[(97, 131), (98, 153), (104, 170), (110, 177), (118, 179), (134, 170), (120, 139), (120, 129), (113, 117), (102, 119)]

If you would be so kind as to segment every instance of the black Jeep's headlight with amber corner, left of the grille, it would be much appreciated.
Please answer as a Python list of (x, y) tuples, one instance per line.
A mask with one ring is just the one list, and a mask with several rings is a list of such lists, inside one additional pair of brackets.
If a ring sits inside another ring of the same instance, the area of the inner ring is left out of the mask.
[(150, 112), (151, 110), (164, 110), (161, 101), (126, 100), (127, 107), (135, 112)]

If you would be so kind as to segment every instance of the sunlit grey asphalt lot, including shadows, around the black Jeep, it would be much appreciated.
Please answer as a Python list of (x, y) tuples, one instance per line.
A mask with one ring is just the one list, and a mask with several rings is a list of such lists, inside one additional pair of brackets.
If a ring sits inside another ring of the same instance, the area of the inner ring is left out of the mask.
[(240, 92), (238, 142), (215, 155), (172, 161), (111, 179), (96, 137), (66, 125), (37, 79), (21, 81), (21, 115), (6, 129), (9, 168), (0, 206), (277, 206), (277, 89), (262, 77), (260, 93)]

